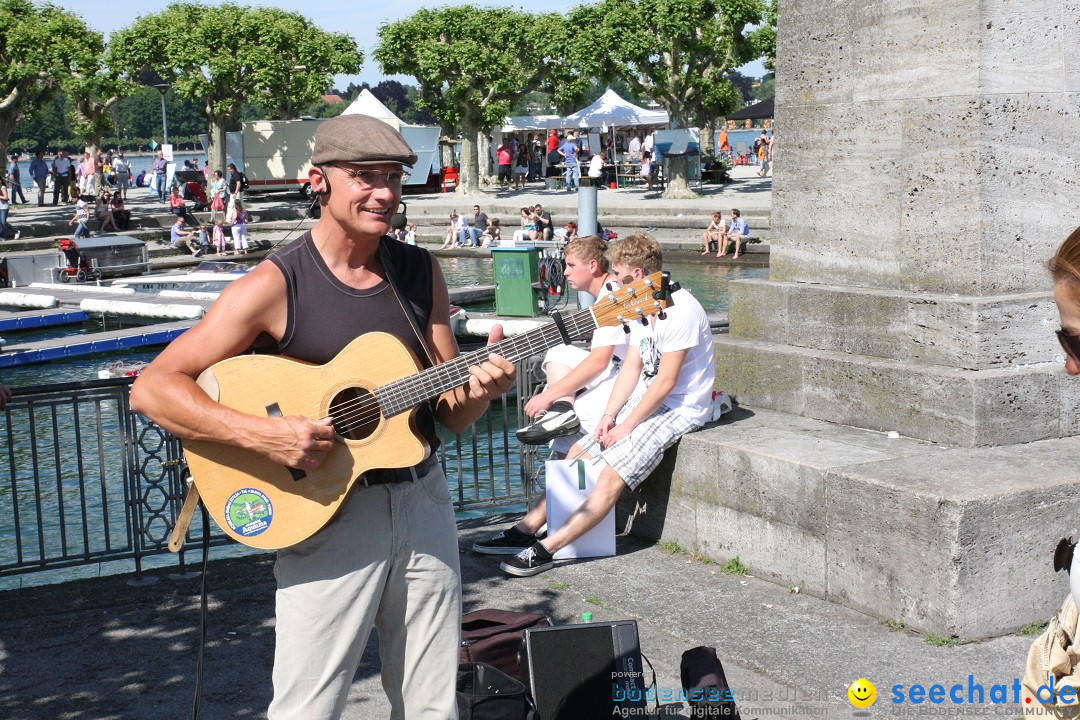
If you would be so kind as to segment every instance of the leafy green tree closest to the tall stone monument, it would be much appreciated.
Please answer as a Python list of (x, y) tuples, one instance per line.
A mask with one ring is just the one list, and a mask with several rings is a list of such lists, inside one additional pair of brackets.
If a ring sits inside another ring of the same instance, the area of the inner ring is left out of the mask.
[[(602, 0), (569, 15), (589, 28), (589, 45), (576, 49), (578, 65), (599, 77), (625, 80), (659, 103), (673, 128), (731, 92), (725, 73), (755, 57), (745, 33), (762, 22), (764, 0)], [(692, 196), (687, 160), (673, 158), (665, 198)]]

